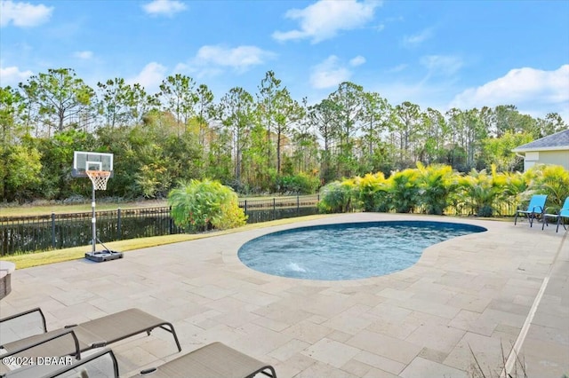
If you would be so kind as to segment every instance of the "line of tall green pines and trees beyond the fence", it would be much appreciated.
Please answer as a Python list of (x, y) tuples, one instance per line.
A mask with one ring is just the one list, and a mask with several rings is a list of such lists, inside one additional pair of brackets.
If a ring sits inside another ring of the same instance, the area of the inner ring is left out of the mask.
[(315, 104), (294, 99), (273, 71), (256, 93), (216, 99), (187, 75), (157, 93), (109, 79), (92, 88), (71, 68), (0, 87), (0, 201), (64, 200), (91, 183), (70, 176), (74, 151), (115, 154), (100, 195), (164, 198), (180, 181), (211, 178), (238, 193), (314, 193), (341, 177), (429, 165), (458, 171), (522, 167), (511, 149), (565, 130), (559, 114), (516, 106), (445, 113), (345, 82)]

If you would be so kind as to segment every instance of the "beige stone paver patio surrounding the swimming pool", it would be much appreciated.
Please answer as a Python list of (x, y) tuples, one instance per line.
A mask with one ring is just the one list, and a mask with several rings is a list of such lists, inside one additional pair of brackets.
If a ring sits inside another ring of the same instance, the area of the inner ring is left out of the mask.
[[(270, 276), (236, 254), (247, 240), (299, 225), (401, 219), (488, 231), (364, 280)], [(279, 377), (468, 377), (472, 353), (486, 375), (498, 376), (501, 350), (508, 357), (513, 345), (528, 376), (561, 377), (569, 374), (567, 237), (526, 222), (339, 215), (131, 251), (113, 262), (17, 270), (0, 317), (39, 306), (54, 329), (137, 307), (172, 322), (182, 353), (220, 341), (272, 364)], [(180, 356), (161, 330), (112, 347), (125, 375)]]

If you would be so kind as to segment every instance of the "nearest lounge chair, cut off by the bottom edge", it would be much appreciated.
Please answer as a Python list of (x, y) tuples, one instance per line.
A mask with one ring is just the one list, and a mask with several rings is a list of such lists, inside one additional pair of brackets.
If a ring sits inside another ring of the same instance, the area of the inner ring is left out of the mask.
[[(115, 354), (109, 349), (99, 350), (73, 364), (62, 366), (59, 370), (52, 370), (47, 374), (41, 374), (38, 370), (39, 367), (41, 366), (22, 367), (7, 374), (6, 378), (69, 376), (117, 378), (124, 376), (119, 374)], [(156, 368), (143, 370), (134, 376), (148, 378), (252, 378), (259, 373), (276, 378), (273, 366), (263, 364), (259, 360), (244, 355), (222, 343), (211, 343)]]

